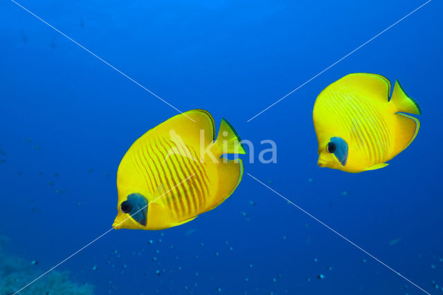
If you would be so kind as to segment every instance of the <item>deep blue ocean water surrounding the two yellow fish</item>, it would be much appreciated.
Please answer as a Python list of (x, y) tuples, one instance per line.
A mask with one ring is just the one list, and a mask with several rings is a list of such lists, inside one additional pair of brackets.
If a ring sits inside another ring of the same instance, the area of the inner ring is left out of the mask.
[[(246, 122), (423, 3), (19, 1), (181, 111), (227, 118), (255, 143), (245, 172), (442, 294), (441, 1)], [(42, 274), (111, 228), (120, 160), (178, 113), (17, 4), (0, 19), (0, 235)], [(422, 127), (387, 168), (318, 168), (314, 101), (355, 72), (398, 79)], [(266, 139), (277, 163), (257, 161)], [(424, 294), (246, 174), (196, 220), (111, 231), (57, 270), (96, 294)]]

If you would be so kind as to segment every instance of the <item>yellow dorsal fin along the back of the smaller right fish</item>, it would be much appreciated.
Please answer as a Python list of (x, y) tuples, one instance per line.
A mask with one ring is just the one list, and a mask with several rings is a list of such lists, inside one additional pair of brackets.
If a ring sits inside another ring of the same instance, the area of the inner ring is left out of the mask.
[[(352, 73), (329, 85), (332, 91), (341, 90), (364, 98), (375, 98), (380, 102), (389, 101), (390, 82), (382, 75), (373, 73)], [(327, 88), (329, 88), (327, 87)]]

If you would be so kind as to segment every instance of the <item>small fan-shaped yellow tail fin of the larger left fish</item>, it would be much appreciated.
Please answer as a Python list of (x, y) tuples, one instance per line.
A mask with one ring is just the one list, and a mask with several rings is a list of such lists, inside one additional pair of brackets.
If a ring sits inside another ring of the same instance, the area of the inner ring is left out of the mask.
[(242, 145), (242, 139), (240, 139), (233, 125), (230, 125), (225, 118), (221, 119), (219, 133), (214, 145), (218, 150), (217, 154), (219, 156), (222, 154), (246, 154)]

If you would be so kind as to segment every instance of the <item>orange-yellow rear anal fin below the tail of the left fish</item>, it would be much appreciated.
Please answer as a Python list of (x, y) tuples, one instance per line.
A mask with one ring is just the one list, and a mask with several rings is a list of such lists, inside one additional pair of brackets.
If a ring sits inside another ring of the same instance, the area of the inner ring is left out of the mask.
[(231, 161), (224, 161), (219, 164), (219, 183), (217, 197), (213, 200), (212, 204), (208, 205), (208, 210), (219, 206), (230, 195), (234, 193), (234, 190), (242, 181), (243, 176), (243, 162), (241, 159), (235, 159)]

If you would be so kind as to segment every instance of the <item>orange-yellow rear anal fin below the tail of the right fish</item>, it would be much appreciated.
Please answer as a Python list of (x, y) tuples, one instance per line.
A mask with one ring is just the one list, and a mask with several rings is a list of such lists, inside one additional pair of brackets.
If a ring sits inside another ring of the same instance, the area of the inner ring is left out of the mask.
[(395, 157), (402, 150), (406, 149), (413, 142), (420, 129), (420, 121), (413, 116), (397, 113), (397, 133), (395, 134), (394, 150), (392, 157)]

